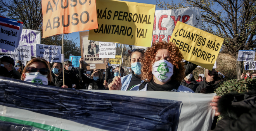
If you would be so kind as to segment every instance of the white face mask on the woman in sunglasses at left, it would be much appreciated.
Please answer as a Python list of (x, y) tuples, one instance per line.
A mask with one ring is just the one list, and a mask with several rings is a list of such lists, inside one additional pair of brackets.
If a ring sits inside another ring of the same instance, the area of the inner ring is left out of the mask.
[(26, 73), (24, 81), (48, 85), (47, 75), (42, 75), (40, 72)]

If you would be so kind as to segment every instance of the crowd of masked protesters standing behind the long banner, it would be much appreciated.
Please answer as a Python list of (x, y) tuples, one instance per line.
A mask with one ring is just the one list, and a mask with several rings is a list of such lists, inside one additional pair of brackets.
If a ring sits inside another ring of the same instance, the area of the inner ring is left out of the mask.
[[(7, 56), (1, 59), (0, 76), (21, 79), (22, 81), (45, 84), (71, 89), (121, 90), (121, 91), (172, 91), (186, 93), (214, 93), (222, 76), (215, 69), (205, 69), (204, 77), (195, 81), (193, 71), (197, 67), (191, 62), (182, 62), (183, 56), (173, 43), (152, 43), (151, 48), (131, 50), (131, 69), (109, 66), (106, 60), (106, 70), (90, 70), (83, 68), (83, 58), (79, 60), (80, 67), (72, 67), (71, 61), (49, 64), (44, 59), (33, 58), (26, 66), (21, 61), (15, 61)], [(16, 71), (14, 67), (19, 67)], [(23, 68), (22, 68), (23, 67)], [(64, 72), (64, 73), (63, 73)], [(64, 79), (63, 79), (64, 75)], [(256, 77), (256, 72), (242, 74), (241, 78)], [(217, 102), (220, 96), (215, 96)], [(217, 103), (211, 103), (217, 112)], [(214, 125), (214, 124), (213, 124)], [(213, 128), (212, 128), (213, 129)]]

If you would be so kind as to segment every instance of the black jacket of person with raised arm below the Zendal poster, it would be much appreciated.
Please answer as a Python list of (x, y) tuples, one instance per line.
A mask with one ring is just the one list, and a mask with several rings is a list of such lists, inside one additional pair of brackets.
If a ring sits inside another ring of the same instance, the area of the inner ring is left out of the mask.
[[(93, 80), (93, 79), (90, 79), (88, 78), (87, 76), (85, 76), (83, 74), (83, 68), (82, 69), (78, 69), (79, 71), (79, 77), (82, 79), (83, 81), (83, 85), (86, 84), (86, 89), (93, 89), (93, 90), (105, 90), (105, 87), (104, 87), (104, 78), (102, 78), (101, 80), (98, 79), (97, 81)], [(108, 75), (106, 74), (106, 77), (108, 77)]]

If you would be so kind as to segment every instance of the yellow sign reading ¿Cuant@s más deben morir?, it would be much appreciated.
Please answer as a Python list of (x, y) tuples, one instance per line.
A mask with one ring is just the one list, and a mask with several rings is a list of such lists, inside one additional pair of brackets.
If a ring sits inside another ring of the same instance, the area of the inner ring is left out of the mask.
[(179, 47), (185, 60), (212, 70), (223, 40), (216, 35), (177, 22), (170, 42)]

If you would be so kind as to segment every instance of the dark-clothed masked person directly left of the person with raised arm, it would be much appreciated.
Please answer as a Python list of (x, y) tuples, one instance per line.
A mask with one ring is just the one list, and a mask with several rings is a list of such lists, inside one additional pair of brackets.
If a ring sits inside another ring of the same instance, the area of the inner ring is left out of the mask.
[(72, 62), (67, 60), (64, 62), (64, 72), (68, 74), (69, 79), (72, 81), (72, 85), (76, 89), (80, 88), (80, 82), (78, 81), (78, 77), (76, 76), (76, 72), (72, 71)]

